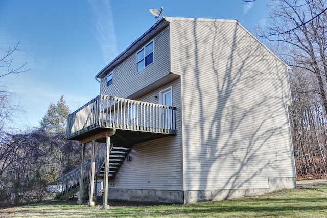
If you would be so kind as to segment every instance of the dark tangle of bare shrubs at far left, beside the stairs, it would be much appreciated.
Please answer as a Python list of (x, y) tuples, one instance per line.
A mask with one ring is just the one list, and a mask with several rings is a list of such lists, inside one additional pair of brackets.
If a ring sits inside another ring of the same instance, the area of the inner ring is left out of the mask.
[(57, 144), (40, 129), (11, 135), (7, 141), (0, 147), (0, 191), (7, 196), (2, 200), (7, 205), (41, 201), (47, 185), (58, 177), (56, 165), (49, 160)]

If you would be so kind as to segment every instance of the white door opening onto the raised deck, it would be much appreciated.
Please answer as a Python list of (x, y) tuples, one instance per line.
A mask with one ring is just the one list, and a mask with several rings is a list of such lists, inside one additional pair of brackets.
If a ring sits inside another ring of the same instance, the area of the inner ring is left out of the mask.
[[(169, 87), (165, 90), (160, 91), (160, 104), (173, 106), (172, 103), (172, 88)], [(165, 108), (161, 110), (159, 117), (159, 127), (164, 129), (172, 129), (172, 110)]]

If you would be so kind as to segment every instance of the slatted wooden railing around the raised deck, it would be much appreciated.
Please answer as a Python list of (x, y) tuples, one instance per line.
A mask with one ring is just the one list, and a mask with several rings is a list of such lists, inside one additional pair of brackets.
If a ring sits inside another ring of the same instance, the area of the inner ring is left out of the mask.
[(96, 128), (176, 134), (176, 108), (99, 95), (67, 119), (67, 138)]

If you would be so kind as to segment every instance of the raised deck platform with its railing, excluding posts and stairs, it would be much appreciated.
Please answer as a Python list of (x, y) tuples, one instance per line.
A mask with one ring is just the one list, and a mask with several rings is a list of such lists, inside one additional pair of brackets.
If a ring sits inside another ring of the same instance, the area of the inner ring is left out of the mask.
[(83, 143), (105, 142), (110, 130), (115, 132), (111, 143), (126, 147), (176, 135), (176, 108), (99, 95), (69, 114), (66, 136)]

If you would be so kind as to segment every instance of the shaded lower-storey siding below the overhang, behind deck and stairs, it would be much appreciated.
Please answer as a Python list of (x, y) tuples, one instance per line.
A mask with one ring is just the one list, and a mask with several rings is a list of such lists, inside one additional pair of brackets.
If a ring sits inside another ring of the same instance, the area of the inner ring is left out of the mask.
[(115, 177), (113, 189), (182, 190), (182, 144), (180, 119), (180, 82), (176, 80), (138, 100), (159, 103), (161, 90), (172, 87), (173, 106), (177, 107), (177, 135), (133, 146), (131, 161), (123, 163)]

